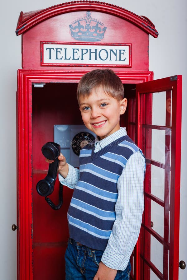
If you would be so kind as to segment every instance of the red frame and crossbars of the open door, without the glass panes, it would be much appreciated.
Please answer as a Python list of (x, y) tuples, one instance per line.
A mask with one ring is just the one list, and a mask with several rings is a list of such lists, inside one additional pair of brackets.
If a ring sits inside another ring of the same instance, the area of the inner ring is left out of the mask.
[[(181, 152), (181, 108), (182, 108), (182, 76), (167, 77), (151, 82), (146, 82), (137, 85), (136, 92), (136, 142), (138, 146), (141, 146), (142, 142), (142, 105), (140, 106), (141, 97), (145, 97), (145, 94), (151, 94), (153, 92), (168, 91), (172, 92), (172, 119), (171, 119), (171, 182), (170, 182), (170, 242), (168, 241), (168, 234), (164, 230), (164, 237), (159, 236), (154, 230), (151, 229), (151, 225), (148, 226), (142, 223), (142, 230), (146, 229), (152, 236), (154, 236), (161, 244), (164, 245), (164, 252), (169, 249), (169, 280), (178, 280), (179, 273), (179, 220), (180, 220), (180, 152)], [(144, 96), (143, 96), (144, 95)], [(151, 106), (150, 106), (151, 108)], [(143, 106), (143, 110), (145, 110)], [(143, 112), (146, 114), (146, 112)], [(148, 112), (150, 114), (150, 112)], [(149, 162), (150, 159), (148, 158)], [(149, 176), (149, 171), (147, 176)], [(146, 184), (146, 180), (145, 180)], [(154, 197), (151, 193), (147, 192), (145, 188), (145, 197), (151, 198), (153, 201), (162, 205), (158, 198)], [(162, 205), (165, 207), (165, 201)], [(145, 210), (146, 210), (145, 205)], [(169, 215), (168, 215), (169, 217)], [(166, 219), (167, 217), (164, 217)], [(165, 222), (165, 221), (164, 221)], [(167, 221), (166, 221), (167, 223)], [(167, 231), (167, 229), (166, 229)], [(141, 264), (140, 260), (151, 268), (159, 279), (168, 279), (168, 264), (163, 260), (163, 275), (160, 271), (151, 263), (150, 259), (141, 255), (140, 240), (137, 244), (137, 259), (136, 271), (138, 275), (136, 279), (141, 278)], [(168, 254), (168, 253), (167, 253)], [(145, 275), (144, 275), (145, 276)], [(147, 278), (149, 279), (149, 276)]]

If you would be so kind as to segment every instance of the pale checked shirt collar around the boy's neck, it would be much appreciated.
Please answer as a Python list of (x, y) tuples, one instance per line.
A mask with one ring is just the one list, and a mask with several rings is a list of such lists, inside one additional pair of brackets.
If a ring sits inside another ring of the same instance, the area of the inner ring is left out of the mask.
[(103, 149), (106, 147), (108, 144), (112, 143), (113, 141), (117, 140), (118, 138), (127, 135), (127, 131), (125, 127), (120, 127), (119, 130), (115, 131), (111, 135), (108, 135), (106, 138), (99, 140), (98, 136), (96, 136), (95, 139), (95, 147), (96, 145), (100, 145), (100, 147)]

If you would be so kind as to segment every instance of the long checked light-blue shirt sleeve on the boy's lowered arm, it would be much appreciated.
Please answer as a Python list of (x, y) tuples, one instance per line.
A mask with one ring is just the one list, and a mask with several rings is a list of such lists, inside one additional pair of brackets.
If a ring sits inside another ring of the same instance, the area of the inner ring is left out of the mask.
[(101, 261), (108, 267), (125, 270), (137, 243), (144, 209), (145, 158), (134, 153), (117, 181), (116, 220)]

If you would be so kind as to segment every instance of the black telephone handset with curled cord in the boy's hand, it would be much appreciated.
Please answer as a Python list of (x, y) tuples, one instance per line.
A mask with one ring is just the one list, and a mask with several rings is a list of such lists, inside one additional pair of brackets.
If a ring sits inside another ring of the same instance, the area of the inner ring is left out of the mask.
[(42, 154), (49, 160), (54, 160), (54, 162), (49, 164), (49, 170), (47, 173), (47, 176), (40, 180), (36, 185), (36, 190), (38, 194), (41, 196), (45, 196), (45, 199), (47, 203), (54, 209), (59, 210), (62, 203), (62, 192), (63, 192), (63, 185), (60, 184), (60, 190), (59, 190), (59, 205), (55, 205), (50, 198), (47, 198), (48, 195), (52, 194), (54, 190), (54, 185), (58, 173), (59, 168), (59, 160), (58, 156), (60, 156), (60, 145), (55, 142), (47, 142), (42, 148), (41, 148)]

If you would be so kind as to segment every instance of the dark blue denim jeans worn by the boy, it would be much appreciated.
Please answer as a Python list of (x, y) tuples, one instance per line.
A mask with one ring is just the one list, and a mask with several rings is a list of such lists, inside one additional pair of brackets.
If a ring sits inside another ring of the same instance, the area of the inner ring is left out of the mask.
[[(65, 274), (66, 280), (86, 279), (93, 280), (97, 273), (103, 251), (93, 250), (87, 246), (68, 240), (68, 247), (65, 252)], [(130, 261), (127, 268), (118, 270), (115, 280), (129, 280), (131, 273)]]

